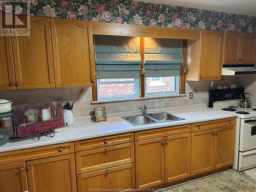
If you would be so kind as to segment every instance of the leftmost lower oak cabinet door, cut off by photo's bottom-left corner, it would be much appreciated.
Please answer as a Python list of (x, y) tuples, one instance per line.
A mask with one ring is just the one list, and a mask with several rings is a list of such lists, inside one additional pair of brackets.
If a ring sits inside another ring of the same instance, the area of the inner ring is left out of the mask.
[(0, 191), (28, 191), (25, 162), (0, 165)]

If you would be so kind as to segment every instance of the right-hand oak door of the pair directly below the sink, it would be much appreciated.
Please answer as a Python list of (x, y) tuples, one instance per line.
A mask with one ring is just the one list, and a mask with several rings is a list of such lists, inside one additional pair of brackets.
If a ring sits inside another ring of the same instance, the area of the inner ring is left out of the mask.
[(191, 134), (180, 134), (165, 138), (165, 182), (190, 176)]

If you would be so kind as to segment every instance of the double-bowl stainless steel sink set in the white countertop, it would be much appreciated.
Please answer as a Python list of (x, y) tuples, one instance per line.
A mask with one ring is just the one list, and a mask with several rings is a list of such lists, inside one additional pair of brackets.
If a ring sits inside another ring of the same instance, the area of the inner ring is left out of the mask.
[(179, 116), (176, 116), (167, 112), (153, 113), (153, 114), (147, 114), (147, 115), (132, 115), (132, 116), (125, 116), (122, 118), (125, 121), (132, 124), (133, 126), (184, 120), (184, 118), (181, 118)]

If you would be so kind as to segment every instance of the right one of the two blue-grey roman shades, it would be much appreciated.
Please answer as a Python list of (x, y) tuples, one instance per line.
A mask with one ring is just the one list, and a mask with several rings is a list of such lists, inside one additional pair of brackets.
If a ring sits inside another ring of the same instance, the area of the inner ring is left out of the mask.
[(180, 76), (182, 40), (144, 38), (145, 77)]

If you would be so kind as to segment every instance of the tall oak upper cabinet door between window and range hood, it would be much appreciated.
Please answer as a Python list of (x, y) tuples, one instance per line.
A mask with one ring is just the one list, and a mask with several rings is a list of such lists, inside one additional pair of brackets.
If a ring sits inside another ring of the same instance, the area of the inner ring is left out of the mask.
[(220, 80), (224, 33), (201, 30), (200, 80)]

